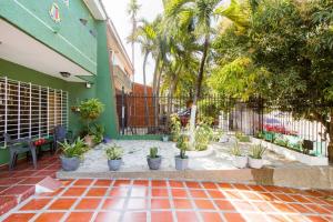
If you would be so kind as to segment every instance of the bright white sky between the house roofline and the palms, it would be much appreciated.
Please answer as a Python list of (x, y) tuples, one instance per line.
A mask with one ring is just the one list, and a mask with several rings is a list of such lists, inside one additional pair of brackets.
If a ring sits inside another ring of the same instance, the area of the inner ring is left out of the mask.
[[(127, 37), (131, 33), (132, 23), (128, 16), (127, 9), (130, 0), (102, 0), (105, 10), (113, 21), (115, 29), (124, 44), (129, 57), (132, 59), (132, 47), (131, 43), (127, 42)], [(152, 21), (159, 13), (162, 12), (162, 0), (138, 0), (141, 4), (141, 9), (138, 13), (138, 19), (145, 18), (148, 21)], [(135, 75), (134, 81), (142, 83), (142, 63), (143, 56), (141, 53), (140, 46), (135, 46)], [(147, 83), (152, 82), (152, 73), (154, 70), (154, 62), (152, 58), (149, 59), (147, 64)]]

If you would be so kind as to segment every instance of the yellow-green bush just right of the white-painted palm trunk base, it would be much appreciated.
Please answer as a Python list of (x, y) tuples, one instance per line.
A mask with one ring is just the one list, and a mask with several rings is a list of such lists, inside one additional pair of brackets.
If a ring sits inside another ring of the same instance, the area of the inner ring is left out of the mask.
[(194, 131), (194, 148), (196, 151), (206, 150), (213, 138), (213, 129), (211, 124), (201, 122)]

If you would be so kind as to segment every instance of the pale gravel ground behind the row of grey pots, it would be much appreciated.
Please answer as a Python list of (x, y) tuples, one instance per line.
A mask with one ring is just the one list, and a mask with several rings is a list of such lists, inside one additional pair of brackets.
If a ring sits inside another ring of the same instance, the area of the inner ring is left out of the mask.
[[(179, 150), (173, 142), (162, 141), (113, 141), (113, 143), (121, 145), (124, 149), (123, 163), (120, 171), (123, 172), (139, 172), (149, 171), (147, 164), (147, 155), (151, 147), (159, 148), (159, 154), (162, 155), (162, 165), (160, 170), (174, 170), (174, 155)], [(229, 150), (233, 145), (233, 139), (225, 143), (212, 143), (210, 147), (213, 152), (208, 157), (190, 158), (190, 170), (231, 170), (235, 169), (232, 165), (232, 158)], [(251, 143), (240, 143), (240, 145), (248, 150)], [(85, 153), (84, 160), (77, 172), (105, 172), (109, 171), (107, 157), (104, 150), (108, 145), (100, 144)], [(303, 165), (300, 162), (286, 160), (283, 155), (266, 151), (264, 155), (264, 164), (270, 168), (284, 168), (291, 165)]]

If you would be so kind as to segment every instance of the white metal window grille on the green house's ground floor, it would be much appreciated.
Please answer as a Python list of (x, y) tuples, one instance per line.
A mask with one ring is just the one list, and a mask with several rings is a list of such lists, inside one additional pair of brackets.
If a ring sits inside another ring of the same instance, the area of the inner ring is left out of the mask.
[(0, 144), (12, 139), (44, 138), (56, 125), (68, 128), (68, 92), (0, 77)]

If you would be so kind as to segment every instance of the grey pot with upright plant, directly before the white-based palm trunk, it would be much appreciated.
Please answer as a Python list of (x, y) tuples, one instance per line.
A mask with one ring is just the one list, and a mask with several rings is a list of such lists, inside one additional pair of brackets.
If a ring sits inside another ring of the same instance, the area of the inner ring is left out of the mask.
[(180, 135), (176, 141), (176, 148), (180, 150), (180, 154), (174, 157), (176, 170), (185, 170), (189, 167), (189, 157), (186, 155), (188, 147), (189, 138), (184, 134)]

